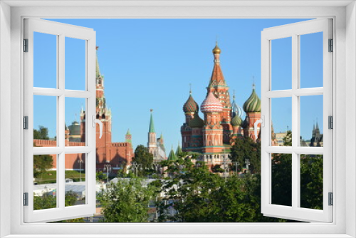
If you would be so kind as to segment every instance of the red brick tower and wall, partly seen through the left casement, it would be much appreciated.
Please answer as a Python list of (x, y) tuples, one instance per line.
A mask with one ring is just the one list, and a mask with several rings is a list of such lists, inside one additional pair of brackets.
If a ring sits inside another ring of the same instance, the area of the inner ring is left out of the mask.
[[(127, 130), (125, 142), (113, 143), (111, 135), (111, 110), (108, 108), (104, 94), (104, 76), (100, 73), (98, 47), (96, 57), (96, 118), (103, 123), (103, 137), (100, 139), (99, 125), (96, 126), (96, 170), (103, 171), (104, 165), (111, 165), (112, 172), (131, 165), (132, 135)], [(66, 146), (85, 146), (85, 110), (80, 111), (80, 123), (74, 121), (66, 126)], [(36, 146), (56, 146), (54, 140), (33, 140)], [(53, 157), (54, 158), (54, 157)], [(85, 157), (82, 154), (66, 155), (66, 170), (83, 170)], [(53, 159), (53, 169), (56, 160)]]

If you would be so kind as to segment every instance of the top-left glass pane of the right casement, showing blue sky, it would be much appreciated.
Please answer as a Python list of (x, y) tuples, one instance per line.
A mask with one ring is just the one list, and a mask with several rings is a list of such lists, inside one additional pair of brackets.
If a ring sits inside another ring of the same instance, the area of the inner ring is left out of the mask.
[(271, 41), (272, 90), (292, 88), (292, 38)]

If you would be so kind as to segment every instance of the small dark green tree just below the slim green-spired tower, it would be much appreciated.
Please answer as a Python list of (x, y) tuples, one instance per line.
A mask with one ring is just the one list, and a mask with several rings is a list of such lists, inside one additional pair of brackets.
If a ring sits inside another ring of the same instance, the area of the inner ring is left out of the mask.
[(132, 161), (140, 164), (137, 176), (145, 176), (152, 172), (153, 155), (148, 152), (148, 148), (145, 148), (144, 145), (137, 145), (135, 157), (132, 158)]

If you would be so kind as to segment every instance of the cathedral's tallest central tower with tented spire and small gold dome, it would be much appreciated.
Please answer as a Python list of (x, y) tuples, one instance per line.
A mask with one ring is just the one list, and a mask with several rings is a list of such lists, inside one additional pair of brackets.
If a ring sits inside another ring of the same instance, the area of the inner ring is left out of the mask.
[(224, 129), (223, 141), (225, 144), (230, 143), (230, 135), (232, 133), (231, 126), (231, 103), (229, 95), (229, 87), (226, 85), (224, 75), (220, 67), (220, 53), (221, 50), (216, 42), (216, 46), (213, 49), (214, 54), (214, 69), (211, 74), (211, 79), (208, 86), (208, 93), (211, 91), (216, 98), (220, 100), (223, 105), (223, 110), (221, 113), (221, 125)]

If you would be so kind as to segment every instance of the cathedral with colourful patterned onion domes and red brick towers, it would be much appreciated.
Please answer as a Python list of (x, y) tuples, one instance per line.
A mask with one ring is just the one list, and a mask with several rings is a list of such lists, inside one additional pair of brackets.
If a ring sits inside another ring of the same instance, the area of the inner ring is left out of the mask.
[(181, 128), (182, 150), (184, 152), (199, 152), (200, 160), (208, 165), (221, 164), (228, 157), (231, 145), (236, 138), (251, 138), (260, 140), (261, 125), (258, 125), (258, 138), (254, 135), (254, 123), (261, 119), (261, 99), (255, 91), (244, 103), (246, 113), (242, 120), (242, 108), (237, 105), (235, 95), (231, 103), (229, 86), (227, 86), (220, 66), (221, 50), (216, 43), (213, 49), (214, 68), (207, 87), (206, 98), (201, 103), (200, 110), (204, 120), (199, 117), (199, 105), (190, 91), (189, 98), (183, 105), (185, 123)]

